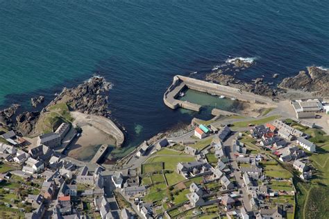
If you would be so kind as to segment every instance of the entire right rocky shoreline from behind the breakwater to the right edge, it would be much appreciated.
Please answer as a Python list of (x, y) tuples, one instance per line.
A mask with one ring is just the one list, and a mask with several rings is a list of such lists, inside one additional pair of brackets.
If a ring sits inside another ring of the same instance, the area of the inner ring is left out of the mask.
[[(271, 86), (272, 83), (264, 83), (262, 78), (253, 79), (251, 82), (237, 79), (232, 72), (240, 72), (247, 67), (252, 67), (253, 63), (246, 62), (239, 58), (230, 63), (215, 69), (205, 75), (204, 80), (212, 83), (219, 83), (224, 86), (231, 86), (256, 95), (263, 95), (273, 99), (290, 99), (303, 97), (328, 97), (329, 91), (329, 70), (319, 67), (307, 67), (307, 71), (301, 71), (296, 76), (282, 80), (278, 86)], [(273, 74), (277, 78), (278, 74)]]

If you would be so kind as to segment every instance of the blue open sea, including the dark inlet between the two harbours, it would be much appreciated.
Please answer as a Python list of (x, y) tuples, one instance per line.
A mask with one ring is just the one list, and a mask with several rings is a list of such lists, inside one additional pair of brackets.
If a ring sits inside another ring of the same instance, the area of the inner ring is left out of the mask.
[[(297, 74), (329, 67), (329, 1), (0, 0), (0, 105), (93, 74), (114, 83), (110, 109), (130, 146), (193, 115), (162, 95), (175, 74), (210, 71), (228, 58), (254, 58), (240, 72)], [(278, 82), (278, 81), (274, 81)]]

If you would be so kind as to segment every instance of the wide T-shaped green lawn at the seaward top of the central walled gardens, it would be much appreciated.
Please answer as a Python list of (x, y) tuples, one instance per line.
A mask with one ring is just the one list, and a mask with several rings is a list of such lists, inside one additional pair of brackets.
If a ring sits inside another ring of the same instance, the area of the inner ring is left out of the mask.
[(194, 156), (152, 156), (146, 161), (146, 163), (156, 163), (163, 162), (165, 163), (165, 170), (174, 170), (176, 171), (178, 162), (192, 162), (195, 161)]

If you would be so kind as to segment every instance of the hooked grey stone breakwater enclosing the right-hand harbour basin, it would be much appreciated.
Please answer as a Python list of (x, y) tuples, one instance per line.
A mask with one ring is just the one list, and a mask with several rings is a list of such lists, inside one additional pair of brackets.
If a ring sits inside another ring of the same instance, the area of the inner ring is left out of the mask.
[(246, 92), (237, 88), (231, 88), (229, 86), (223, 86), (216, 83), (192, 79), (187, 76), (181, 75), (174, 76), (174, 81), (165, 92), (163, 96), (163, 101), (169, 108), (172, 109), (180, 107), (199, 112), (201, 110), (201, 106), (199, 104), (194, 104), (191, 102), (176, 99), (180, 92), (182, 92), (186, 88), (205, 92), (210, 95), (224, 95), (226, 97), (234, 98), (244, 102), (273, 104), (273, 100), (269, 97), (263, 97), (261, 95), (255, 95), (252, 92)]

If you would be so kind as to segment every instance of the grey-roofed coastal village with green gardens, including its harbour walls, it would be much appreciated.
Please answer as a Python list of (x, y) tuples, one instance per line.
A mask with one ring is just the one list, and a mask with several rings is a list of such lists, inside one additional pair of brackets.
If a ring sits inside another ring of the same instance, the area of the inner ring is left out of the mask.
[[(201, 110), (177, 99), (186, 87), (277, 104), (176, 80), (164, 96), (171, 108)], [(319, 184), (328, 175), (327, 101), (286, 100), (259, 117), (220, 111), (212, 120), (194, 118), (185, 133), (145, 141), (112, 166), (99, 162), (108, 145), (90, 162), (67, 156), (83, 134), (69, 121), (33, 141), (1, 126), (0, 217), (295, 218), (301, 210), (296, 185)]]

